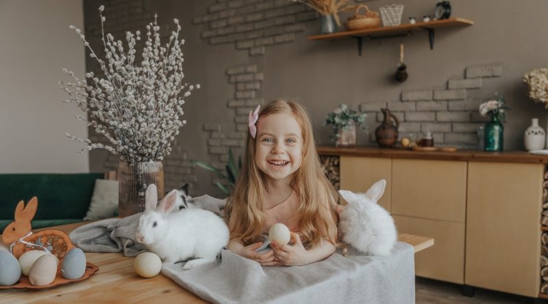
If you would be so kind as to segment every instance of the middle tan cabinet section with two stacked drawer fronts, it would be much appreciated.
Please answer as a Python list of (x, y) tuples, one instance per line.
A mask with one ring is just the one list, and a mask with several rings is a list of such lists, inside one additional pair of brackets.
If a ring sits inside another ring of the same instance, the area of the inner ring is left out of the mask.
[(398, 230), (436, 244), (417, 255), (416, 275), (463, 284), (466, 162), (393, 159), (392, 184)]

